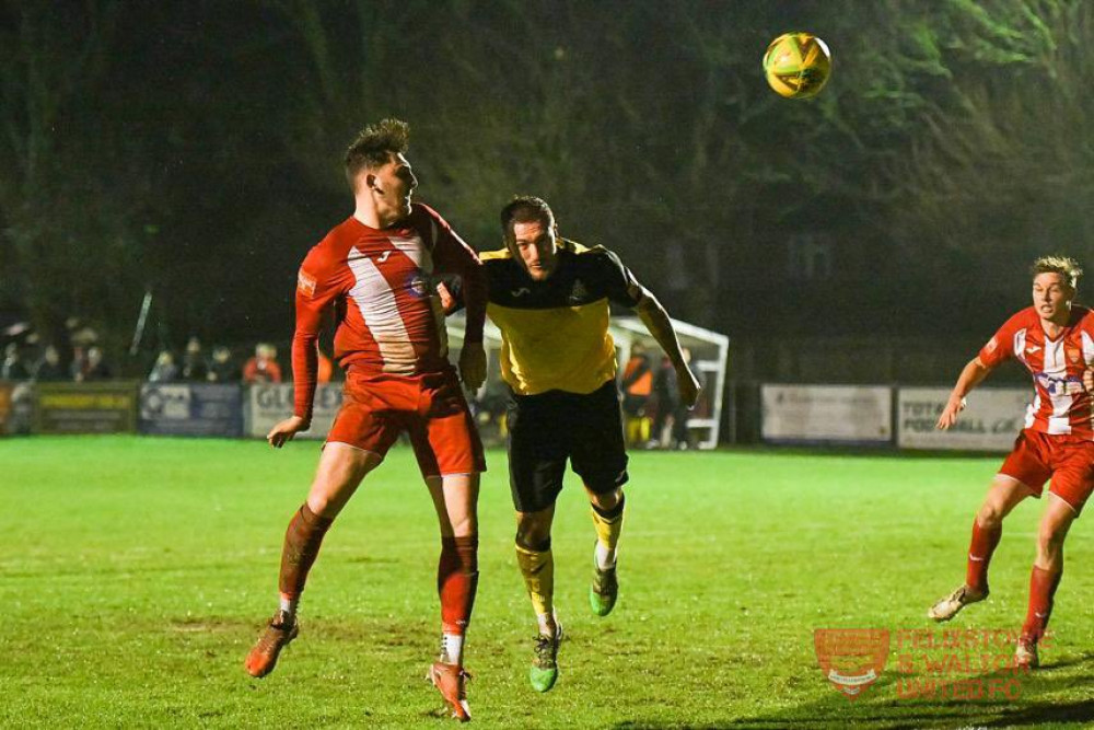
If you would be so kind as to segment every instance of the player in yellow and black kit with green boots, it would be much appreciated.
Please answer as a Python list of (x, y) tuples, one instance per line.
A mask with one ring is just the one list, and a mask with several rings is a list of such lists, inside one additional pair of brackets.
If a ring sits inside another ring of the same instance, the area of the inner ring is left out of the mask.
[(501, 376), (509, 386), (509, 482), (516, 508), (516, 563), (539, 633), (528, 680), (548, 692), (559, 676), (562, 625), (555, 613), (550, 534), (567, 462), (584, 483), (596, 543), (589, 605), (612, 613), (624, 522), (624, 443), (612, 303), (638, 313), (676, 369), (687, 405), (699, 383), (667, 312), (619, 257), (558, 236), (550, 206), (514, 198), (501, 211), (505, 247), (480, 254), (489, 282), (487, 316), (501, 329)]

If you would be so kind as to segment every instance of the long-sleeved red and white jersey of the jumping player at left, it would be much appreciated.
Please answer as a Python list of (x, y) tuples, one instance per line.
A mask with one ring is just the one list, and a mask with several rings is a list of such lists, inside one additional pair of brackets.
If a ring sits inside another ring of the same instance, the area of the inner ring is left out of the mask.
[(486, 278), (475, 252), (431, 208), (379, 230), (350, 217), (304, 258), (292, 338), (295, 414), (310, 418), (323, 314), (334, 309), (335, 358), (344, 369), (414, 375), (449, 366), (434, 274), (463, 279), (465, 340), (482, 341)]

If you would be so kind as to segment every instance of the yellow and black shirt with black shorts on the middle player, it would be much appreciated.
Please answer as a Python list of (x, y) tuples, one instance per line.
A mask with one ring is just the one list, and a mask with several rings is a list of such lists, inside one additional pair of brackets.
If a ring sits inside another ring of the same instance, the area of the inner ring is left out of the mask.
[(533, 280), (508, 248), (480, 255), (490, 283), (487, 315), (502, 333), (513, 503), (552, 505), (567, 459), (592, 491), (627, 482), (608, 303), (638, 305), (641, 291), (619, 257), (559, 239), (556, 269)]

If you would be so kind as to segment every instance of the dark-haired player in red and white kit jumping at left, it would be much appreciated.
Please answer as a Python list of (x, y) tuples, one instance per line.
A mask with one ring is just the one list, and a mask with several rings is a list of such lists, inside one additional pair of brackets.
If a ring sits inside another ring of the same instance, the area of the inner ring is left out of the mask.
[[(267, 439), (280, 448), (311, 424), (316, 339), (324, 314), (337, 322), (335, 357), (346, 370), (342, 407), (327, 434), (307, 500), (289, 524), (279, 576), (280, 605), (246, 660), (269, 674), (299, 631), (296, 605), (335, 517), (403, 432), (414, 447), (440, 521), (441, 656), (429, 679), (453, 717), (470, 719), (463, 670), (464, 633), (478, 582), (479, 473), (482, 445), (459, 380), (486, 378), (486, 278), (467, 244), (434, 210), (410, 198), (418, 184), (405, 153), (409, 127), (366, 127), (346, 153), (356, 209), (314, 246), (296, 280), (292, 343), (295, 409)], [(467, 329), (459, 376), (447, 359), (444, 312), (431, 277), (463, 281)]]

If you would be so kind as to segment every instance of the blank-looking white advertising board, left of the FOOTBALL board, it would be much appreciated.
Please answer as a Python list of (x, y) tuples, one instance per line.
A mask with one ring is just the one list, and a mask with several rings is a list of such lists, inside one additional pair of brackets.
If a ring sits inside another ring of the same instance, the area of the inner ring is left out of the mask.
[(760, 386), (760, 433), (771, 442), (891, 443), (893, 395), (884, 385)]

